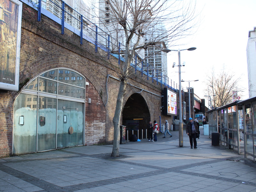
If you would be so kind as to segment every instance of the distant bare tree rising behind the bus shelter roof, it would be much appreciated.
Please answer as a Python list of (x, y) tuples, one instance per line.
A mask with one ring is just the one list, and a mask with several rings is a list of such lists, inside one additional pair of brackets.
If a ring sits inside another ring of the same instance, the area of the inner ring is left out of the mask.
[(219, 73), (215, 73), (214, 68), (207, 76), (206, 84), (209, 87), (209, 100), (213, 101), (214, 107), (221, 107), (232, 102), (232, 91), (241, 91), (238, 83), (241, 76), (227, 71), (224, 67)]

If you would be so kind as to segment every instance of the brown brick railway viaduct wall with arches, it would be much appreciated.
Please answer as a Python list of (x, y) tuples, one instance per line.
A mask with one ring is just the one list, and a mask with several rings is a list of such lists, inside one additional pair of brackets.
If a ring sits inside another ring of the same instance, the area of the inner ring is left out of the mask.
[[(94, 45), (85, 40), (81, 45), (80, 37), (66, 28), (65, 33), (61, 35), (61, 26), (50, 18), (42, 15), (41, 21), (38, 22), (37, 11), (23, 3), (20, 90), (29, 80), (52, 68), (70, 68), (81, 73), (86, 78), (86, 82), (89, 82), (85, 92), (85, 145), (109, 144), (113, 141), (112, 119), (119, 82), (115, 78), (108, 78), (107, 102), (107, 75), (116, 76), (116, 74), (110, 68), (109, 60), (102, 57), (102, 54), (103, 51), (95, 53)], [(118, 65), (116, 58), (110, 60)], [(141, 79), (143, 77), (129, 81), (136, 87), (127, 85), (124, 105), (129, 98), (130, 104), (133, 100), (134, 104), (131, 104), (132, 107), (130, 106), (125, 114), (130, 117), (148, 114), (140, 125), (144, 127), (149, 119), (152, 121), (156, 119), (159, 122), (159, 116), (171, 122), (171, 116), (164, 116), (160, 109), (162, 106), (160, 95), (163, 91), (161, 84), (156, 84), (155, 81), (152, 83), (150, 78), (143, 81)], [(144, 91), (140, 92), (142, 89)], [(19, 92), (0, 90), (0, 158), (12, 155), (13, 103)], [(87, 102), (87, 98), (91, 98), (91, 103)], [(144, 102), (146, 109), (139, 106), (140, 101)], [(123, 115), (122, 118), (126, 117)]]

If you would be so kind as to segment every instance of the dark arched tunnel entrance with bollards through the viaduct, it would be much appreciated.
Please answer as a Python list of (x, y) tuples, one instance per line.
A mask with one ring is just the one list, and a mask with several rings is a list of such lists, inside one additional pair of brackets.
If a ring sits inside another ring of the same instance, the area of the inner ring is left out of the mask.
[[(128, 130), (128, 138), (130, 139), (133, 132), (138, 139), (145, 139), (149, 120), (150, 113), (145, 99), (138, 93), (132, 94), (123, 110), (123, 125)], [(125, 139), (127, 140), (127, 131)]]

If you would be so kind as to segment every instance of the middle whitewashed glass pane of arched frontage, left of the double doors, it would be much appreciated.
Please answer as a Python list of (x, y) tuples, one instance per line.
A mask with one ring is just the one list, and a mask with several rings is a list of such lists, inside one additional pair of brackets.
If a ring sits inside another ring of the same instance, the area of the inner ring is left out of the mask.
[(56, 148), (57, 99), (38, 98), (38, 151)]

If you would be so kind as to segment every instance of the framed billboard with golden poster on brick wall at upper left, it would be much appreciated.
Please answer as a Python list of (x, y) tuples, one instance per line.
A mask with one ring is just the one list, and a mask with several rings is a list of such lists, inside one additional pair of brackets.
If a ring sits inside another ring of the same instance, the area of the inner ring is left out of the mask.
[(0, 0), (0, 89), (19, 90), (22, 3)]

